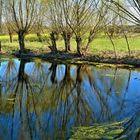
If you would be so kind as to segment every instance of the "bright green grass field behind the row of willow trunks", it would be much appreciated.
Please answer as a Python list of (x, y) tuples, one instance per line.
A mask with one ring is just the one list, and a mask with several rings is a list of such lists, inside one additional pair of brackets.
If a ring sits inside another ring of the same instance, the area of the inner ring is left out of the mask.
[[(46, 34), (44, 36), (45, 39), (49, 38)], [(13, 43), (9, 43), (8, 36), (0, 36), (0, 41), (2, 42), (2, 49), (4, 52), (12, 52), (19, 49), (19, 44), (17, 41), (17, 36), (13, 36)], [(128, 38), (129, 45), (131, 51), (140, 50), (140, 36), (136, 37), (129, 37)], [(124, 38), (115, 38), (113, 39), (115, 44), (115, 48), (117, 52), (128, 52), (127, 43)], [(38, 38), (35, 34), (30, 34), (26, 36), (25, 44), (27, 49), (31, 49), (32, 51), (44, 52), (48, 50), (49, 44), (47, 41), (38, 42)], [(86, 41), (83, 41), (83, 45), (85, 46)], [(64, 42), (62, 39), (57, 41), (57, 46), (59, 50), (64, 50)], [(72, 39), (71, 41), (71, 48), (72, 51), (76, 51), (76, 43), (75, 40)], [(98, 53), (101, 51), (113, 51), (113, 46), (109, 38), (96, 38), (91, 45), (89, 46), (90, 53)]]

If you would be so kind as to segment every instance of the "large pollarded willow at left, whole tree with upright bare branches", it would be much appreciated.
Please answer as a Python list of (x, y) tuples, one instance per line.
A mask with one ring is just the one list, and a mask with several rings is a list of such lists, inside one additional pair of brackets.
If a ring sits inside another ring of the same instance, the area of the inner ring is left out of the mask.
[[(5, 21), (18, 34), (20, 52), (25, 50), (25, 36), (37, 22), (39, 0), (5, 0)], [(9, 18), (10, 17), (10, 18)], [(9, 21), (10, 20), (10, 21)]]

